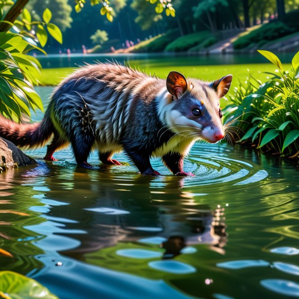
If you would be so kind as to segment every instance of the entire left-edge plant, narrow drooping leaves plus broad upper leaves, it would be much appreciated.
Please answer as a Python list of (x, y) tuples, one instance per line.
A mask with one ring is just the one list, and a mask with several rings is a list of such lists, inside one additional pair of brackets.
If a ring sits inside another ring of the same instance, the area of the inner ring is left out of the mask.
[(20, 121), (23, 114), (30, 117), (30, 109), (43, 110), (42, 101), (33, 89), (33, 84), (39, 82), (41, 65), (27, 52), (35, 49), (46, 53), (36, 43), (38, 40), (42, 47), (45, 46), (48, 40), (46, 28), (52, 37), (62, 42), (61, 31), (50, 23), (51, 17), (50, 10), (46, 9), (42, 22), (32, 22), (25, 8), (22, 19), (16, 20), (15, 24), (1, 21), (18, 32), (0, 32), (0, 114), (9, 119)]

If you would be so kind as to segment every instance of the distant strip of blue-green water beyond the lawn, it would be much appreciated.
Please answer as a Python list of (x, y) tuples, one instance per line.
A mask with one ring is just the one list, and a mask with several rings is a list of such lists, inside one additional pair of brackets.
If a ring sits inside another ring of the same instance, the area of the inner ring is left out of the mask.
[[(278, 53), (282, 63), (291, 63), (295, 52)], [(129, 63), (131, 65), (144, 67), (150, 65), (170, 66), (174, 63), (179, 66), (196, 66), (196, 65), (226, 65), (226, 64), (250, 64), (250, 63), (267, 63), (265, 57), (259, 53), (251, 54), (214, 54), (214, 55), (189, 55), (185, 53), (144, 53), (144, 54), (50, 54), (37, 55), (43, 68), (62, 68), (77, 67), (84, 63), (94, 63), (95, 61), (106, 62), (118, 61), (120, 63)]]

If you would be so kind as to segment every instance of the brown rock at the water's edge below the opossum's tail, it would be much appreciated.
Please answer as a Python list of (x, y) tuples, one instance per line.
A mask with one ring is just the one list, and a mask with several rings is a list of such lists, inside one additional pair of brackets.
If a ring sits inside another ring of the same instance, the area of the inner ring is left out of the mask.
[(36, 161), (18, 149), (12, 142), (0, 138), (0, 172), (9, 168), (32, 165)]

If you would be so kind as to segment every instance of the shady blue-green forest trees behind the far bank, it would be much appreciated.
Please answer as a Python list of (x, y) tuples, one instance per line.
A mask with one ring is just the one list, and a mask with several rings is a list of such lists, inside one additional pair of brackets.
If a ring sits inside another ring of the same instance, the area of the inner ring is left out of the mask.
[[(285, 14), (296, 11), (292, 17), (293, 25), (299, 23), (299, 0), (173, 0), (175, 17), (167, 17), (165, 13), (157, 14), (155, 5), (146, 0), (111, 0), (114, 8), (113, 22), (109, 22), (100, 14), (100, 7), (93, 7), (89, 1), (79, 13), (75, 11), (74, 2), (70, 0), (29, 1), (26, 8), (32, 17), (38, 20), (45, 8), (52, 11), (52, 20), (63, 33), (63, 45), (50, 40), (46, 46), (48, 52), (82, 51), (94, 47), (92, 35), (97, 30), (105, 31), (103, 42), (100, 34), (98, 44), (104, 44), (103, 50), (128, 47), (128, 42), (136, 44), (177, 29), (175, 37), (209, 31), (211, 34), (241, 29), (244, 27), (272, 22), (284, 21)], [(289, 18), (288, 18), (289, 19)], [(294, 28), (295, 28), (294, 27)], [(278, 30), (281, 30), (279, 27)], [(99, 32), (99, 31), (98, 31)]]

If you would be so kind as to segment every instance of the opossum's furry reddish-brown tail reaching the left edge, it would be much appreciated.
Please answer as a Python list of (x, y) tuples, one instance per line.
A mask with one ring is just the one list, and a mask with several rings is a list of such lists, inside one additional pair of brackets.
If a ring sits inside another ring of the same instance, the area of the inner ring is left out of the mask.
[(21, 148), (42, 147), (52, 133), (53, 125), (47, 114), (40, 123), (35, 124), (17, 124), (0, 116), (0, 137)]

